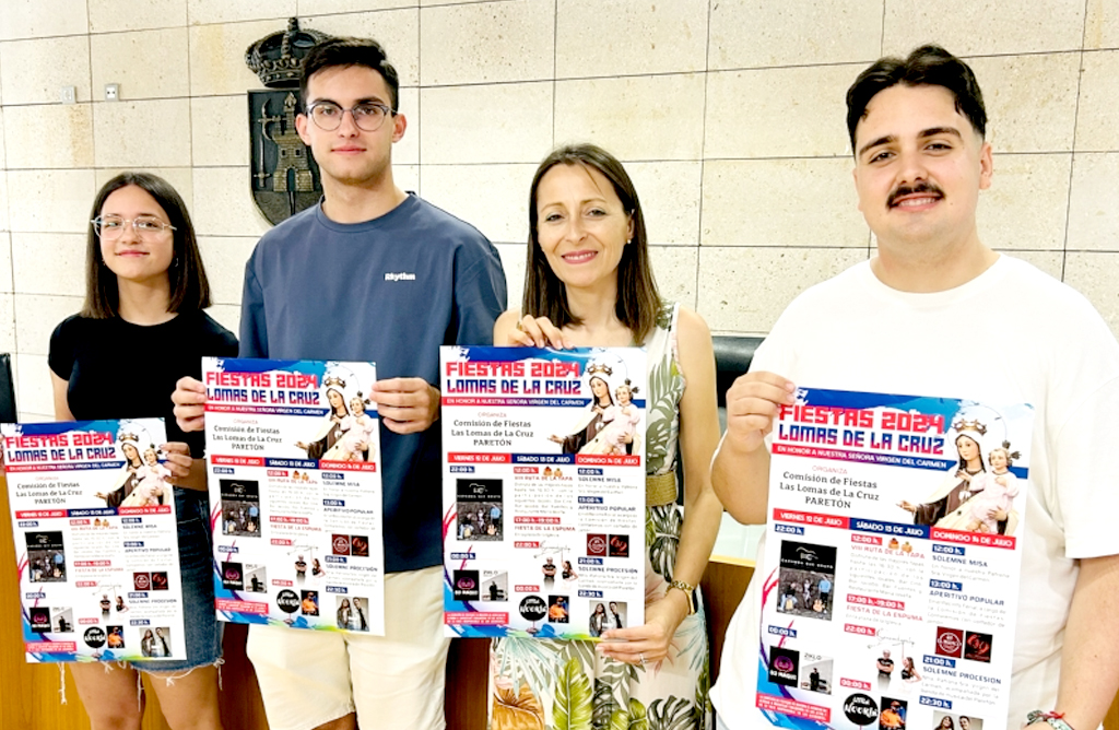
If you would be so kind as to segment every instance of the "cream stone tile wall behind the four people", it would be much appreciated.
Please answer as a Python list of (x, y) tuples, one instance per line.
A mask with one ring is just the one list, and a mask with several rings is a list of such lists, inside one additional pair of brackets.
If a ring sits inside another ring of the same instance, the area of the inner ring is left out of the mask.
[[(25, 417), (51, 412), (47, 339), (79, 306), (88, 206), (122, 168), (184, 194), (214, 315), (236, 328), (267, 227), (247, 185), (245, 92), (261, 84), (243, 54), (289, 16), (386, 46), (408, 120), (399, 184), (498, 244), (515, 301), (535, 163), (593, 140), (637, 181), (662, 289), (724, 333), (767, 331), (869, 255), (844, 92), (882, 54), (935, 40), (987, 95), (984, 240), (1119, 330), (1116, 0), (0, 0), (0, 350)], [(109, 82), (122, 101), (101, 101)]]

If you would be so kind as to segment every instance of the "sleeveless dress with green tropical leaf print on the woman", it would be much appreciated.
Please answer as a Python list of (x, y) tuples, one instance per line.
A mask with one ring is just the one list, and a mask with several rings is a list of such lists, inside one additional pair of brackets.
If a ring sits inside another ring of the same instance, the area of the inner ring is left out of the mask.
[[(685, 385), (676, 352), (678, 311), (677, 305), (666, 303), (645, 343), (649, 476), (676, 471)], [(646, 606), (662, 599), (673, 580), (683, 525), (684, 512), (677, 504), (646, 507)], [(490, 646), (489, 728), (709, 730), (709, 678), (703, 610), (676, 629), (668, 657), (647, 666), (605, 658), (594, 651), (593, 642), (496, 638)]]

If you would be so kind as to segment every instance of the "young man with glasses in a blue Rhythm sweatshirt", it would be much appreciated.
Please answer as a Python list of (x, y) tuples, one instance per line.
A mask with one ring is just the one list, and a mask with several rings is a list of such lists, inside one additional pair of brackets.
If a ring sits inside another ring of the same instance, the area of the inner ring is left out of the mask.
[[(266, 233), (245, 268), (242, 357), (376, 361), (385, 532), (385, 637), (253, 626), (248, 656), (273, 730), (443, 727), (439, 346), (488, 344), (505, 309), (497, 251), (393, 181), (407, 127), (373, 40), (331, 39), (304, 60), (297, 129), (321, 205)], [(176, 391), (186, 429), (205, 389)]]

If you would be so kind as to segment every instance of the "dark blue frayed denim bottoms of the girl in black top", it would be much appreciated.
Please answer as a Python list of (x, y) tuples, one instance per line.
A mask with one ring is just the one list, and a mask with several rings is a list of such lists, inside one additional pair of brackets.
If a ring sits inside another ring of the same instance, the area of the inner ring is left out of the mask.
[(138, 670), (156, 674), (207, 666), (222, 656), (222, 629), (214, 612), (214, 549), (209, 533), (209, 498), (205, 492), (175, 487), (175, 509), (179, 517), (179, 572), (182, 577), (187, 658), (131, 663)]

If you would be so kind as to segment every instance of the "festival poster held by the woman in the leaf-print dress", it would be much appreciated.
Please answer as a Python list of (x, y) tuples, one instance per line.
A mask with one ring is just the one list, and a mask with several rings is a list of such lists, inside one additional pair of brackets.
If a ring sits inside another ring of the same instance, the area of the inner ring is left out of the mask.
[(646, 356), (443, 347), (448, 636), (645, 623)]

